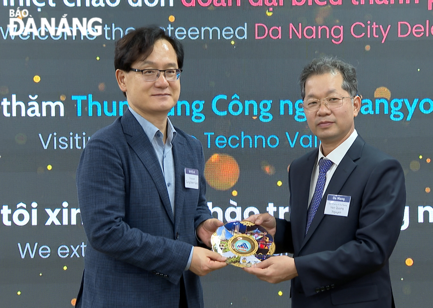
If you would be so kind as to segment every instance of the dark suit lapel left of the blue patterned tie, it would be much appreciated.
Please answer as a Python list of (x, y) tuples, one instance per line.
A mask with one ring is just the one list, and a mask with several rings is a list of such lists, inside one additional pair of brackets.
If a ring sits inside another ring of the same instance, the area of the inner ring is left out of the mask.
[[(301, 245), (304, 239), (306, 222), (307, 222), (307, 206), (308, 197), (310, 195), (310, 182), (311, 174), (313, 173), (314, 164), (317, 161), (317, 155), (319, 151), (312, 151), (304, 162), (299, 162), (302, 170), (296, 172), (296, 182), (291, 183), (291, 195), (292, 195), (292, 208), (290, 214), (290, 221), (292, 223), (292, 238), (294, 242)], [(299, 198), (293, 198), (299, 191)], [(297, 239), (300, 239), (298, 241)]]

